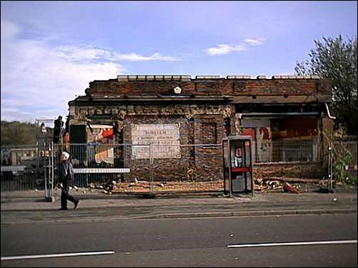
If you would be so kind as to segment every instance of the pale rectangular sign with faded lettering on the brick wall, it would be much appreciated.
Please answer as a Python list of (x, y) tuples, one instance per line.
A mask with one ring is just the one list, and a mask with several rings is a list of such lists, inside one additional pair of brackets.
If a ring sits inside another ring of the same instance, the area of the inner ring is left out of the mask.
[(132, 159), (149, 159), (153, 144), (153, 159), (180, 159), (180, 124), (133, 124)]

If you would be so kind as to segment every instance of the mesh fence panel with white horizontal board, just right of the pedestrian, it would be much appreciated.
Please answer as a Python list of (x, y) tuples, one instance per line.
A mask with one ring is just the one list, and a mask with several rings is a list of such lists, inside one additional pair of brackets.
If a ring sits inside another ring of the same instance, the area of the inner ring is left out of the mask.
[(149, 191), (147, 187), (138, 187), (150, 181), (149, 158), (140, 157), (149, 151), (149, 146), (91, 143), (71, 144), (69, 148), (77, 187), (116, 193)]

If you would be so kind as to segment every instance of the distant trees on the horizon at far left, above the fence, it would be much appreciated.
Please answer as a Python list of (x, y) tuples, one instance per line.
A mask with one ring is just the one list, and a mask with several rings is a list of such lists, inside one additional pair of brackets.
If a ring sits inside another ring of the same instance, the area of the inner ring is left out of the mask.
[(1, 121), (1, 145), (36, 144), (36, 125)]

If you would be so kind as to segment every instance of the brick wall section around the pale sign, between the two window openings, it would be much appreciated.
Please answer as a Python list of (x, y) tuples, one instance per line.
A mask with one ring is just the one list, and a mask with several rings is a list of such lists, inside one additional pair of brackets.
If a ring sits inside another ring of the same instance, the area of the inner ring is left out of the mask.
[[(184, 116), (158, 117), (153, 115), (127, 116), (123, 129), (123, 142), (131, 144), (131, 124), (180, 124), (180, 144), (202, 143), (206, 132), (202, 124), (216, 125), (217, 143), (223, 139), (223, 117), (218, 115), (200, 116), (190, 120)], [(182, 146), (180, 159), (154, 159), (153, 178), (155, 181), (213, 181), (223, 178), (223, 155), (221, 146)], [(130, 157), (129, 154), (127, 157)], [(126, 161), (129, 161), (127, 159)], [(148, 159), (131, 159), (130, 179), (149, 180)]]

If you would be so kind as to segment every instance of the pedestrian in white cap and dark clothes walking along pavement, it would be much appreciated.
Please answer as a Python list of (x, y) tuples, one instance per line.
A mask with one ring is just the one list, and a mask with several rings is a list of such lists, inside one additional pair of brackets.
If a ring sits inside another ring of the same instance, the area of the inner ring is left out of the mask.
[(60, 159), (60, 187), (62, 189), (61, 191), (61, 208), (60, 210), (67, 210), (67, 200), (70, 200), (74, 205), (74, 209), (76, 210), (79, 200), (76, 198), (73, 198), (72, 195), (68, 193), (70, 190), (70, 186), (73, 186), (73, 167), (71, 162), (68, 160), (70, 155), (64, 151), (61, 154)]

